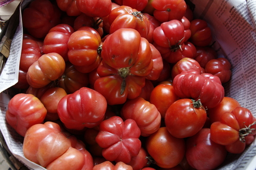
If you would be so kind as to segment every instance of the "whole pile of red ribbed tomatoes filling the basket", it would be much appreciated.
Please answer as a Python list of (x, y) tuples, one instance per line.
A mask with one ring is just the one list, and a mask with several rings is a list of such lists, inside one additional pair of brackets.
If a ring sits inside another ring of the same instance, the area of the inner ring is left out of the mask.
[(46, 169), (214, 169), (256, 118), (184, 0), (35, 0), (7, 123)]

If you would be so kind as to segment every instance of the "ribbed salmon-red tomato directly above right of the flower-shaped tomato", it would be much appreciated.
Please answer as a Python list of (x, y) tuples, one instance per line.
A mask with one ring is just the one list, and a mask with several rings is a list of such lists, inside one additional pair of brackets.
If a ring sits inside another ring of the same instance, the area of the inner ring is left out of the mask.
[(121, 117), (136, 121), (141, 136), (149, 136), (160, 128), (161, 114), (154, 104), (141, 97), (126, 101), (121, 108)]

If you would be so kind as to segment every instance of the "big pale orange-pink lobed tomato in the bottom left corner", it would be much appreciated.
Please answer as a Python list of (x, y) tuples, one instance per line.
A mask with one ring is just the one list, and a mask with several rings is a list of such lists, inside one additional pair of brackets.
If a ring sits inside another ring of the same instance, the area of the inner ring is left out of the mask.
[(85, 145), (67, 136), (57, 123), (35, 124), (24, 136), (23, 153), (46, 169), (92, 168), (93, 161)]

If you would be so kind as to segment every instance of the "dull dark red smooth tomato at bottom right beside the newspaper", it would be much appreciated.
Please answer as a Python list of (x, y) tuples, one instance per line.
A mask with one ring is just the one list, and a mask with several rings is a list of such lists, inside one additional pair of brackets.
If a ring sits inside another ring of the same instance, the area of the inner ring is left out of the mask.
[(204, 128), (186, 140), (186, 159), (195, 169), (215, 169), (226, 159), (225, 147), (210, 136), (210, 129)]

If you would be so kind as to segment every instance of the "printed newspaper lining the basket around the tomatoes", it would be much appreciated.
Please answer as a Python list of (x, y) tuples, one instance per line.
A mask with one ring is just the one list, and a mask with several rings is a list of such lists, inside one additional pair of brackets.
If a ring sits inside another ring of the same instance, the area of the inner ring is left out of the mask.
[[(24, 1), (25, 2), (25, 1)], [(191, 0), (195, 18), (206, 20), (213, 31), (214, 49), (218, 56), (232, 63), (232, 78), (224, 84), (226, 96), (235, 98), (256, 116), (256, 1), (255, 0)], [(26, 1), (28, 3), (28, 1)], [(21, 11), (20, 11), (21, 21)], [(18, 81), (18, 63), (22, 43), (22, 23), (17, 28), (11, 54), (0, 76), (0, 129), (14, 156), (31, 169), (45, 169), (24, 158), (22, 137), (5, 121), (8, 101), (13, 97), (10, 87)], [(256, 169), (256, 140), (245, 152), (230, 154), (218, 169)]]

